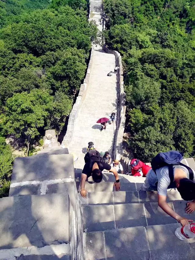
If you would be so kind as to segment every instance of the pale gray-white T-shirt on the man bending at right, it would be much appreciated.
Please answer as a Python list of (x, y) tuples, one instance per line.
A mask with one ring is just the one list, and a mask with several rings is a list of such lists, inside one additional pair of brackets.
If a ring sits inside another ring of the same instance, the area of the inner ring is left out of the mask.
[[(179, 168), (182, 169), (185, 173), (186, 173), (186, 178), (190, 178), (189, 177), (189, 171), (187, 170), (186, 167), (183, 167), (181, 165), (175, 165), (173, 166), (173, 174), (175, 174), (175, 169)], [(154, 173), (155, 174), (155, 173)], [(195, 171), (193, 170), (193, 182), (195, 182)], [(163, 195), (163, 196), (167, 196), (167, 188), (170, 184), (170, 179), (169, 179), (169, 175), (168, 175), (168, 166), (164, 166), (162, 168), (159, 168), (156, 170), (156, 175), (158, 178), (158, 187), (157, 187), (157, 191), (159, 195)], [(173, 183), (173, 188), (176, 188), (175, 183)]]

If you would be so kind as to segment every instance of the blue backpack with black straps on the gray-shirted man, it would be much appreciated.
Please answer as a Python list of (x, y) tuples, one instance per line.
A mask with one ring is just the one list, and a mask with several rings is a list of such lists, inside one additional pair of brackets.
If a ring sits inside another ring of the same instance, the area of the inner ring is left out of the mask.
[(184, 166), (186, 169), (188, 169), (190, 174), (190, 180), (193, 180), (194, 175), (192, 169), (186, 166), (185, 164), (181, 163), (182, 159), (183, 159), (183, 153), (172, 150), (165, 153), (159, 153), (158, 155), (156, 155), (151, 161), (151, 166), (155, 173), (157, 169), (163, 166), (168, 166), (168, 175), (171, 181), (170, 183), (173, 183), (174, 181), (173, 165), (181, 165)]

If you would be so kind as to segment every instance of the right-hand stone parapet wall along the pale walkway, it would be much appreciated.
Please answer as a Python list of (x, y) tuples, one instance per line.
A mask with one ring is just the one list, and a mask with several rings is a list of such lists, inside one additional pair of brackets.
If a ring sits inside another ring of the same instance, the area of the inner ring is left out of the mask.
[(120, 159), (122, 156), (122, 138), (125, 129), (125, 92), (124, 92), (124, 81), (123, 81), (123, 70), (122, 70), (122, 59), (119, 52), (109, 50), (105, 45), (103, 45), (103, 50), (106, 53), (111, 53), (115, 55), (116, 65), (119, 67), (117, 71), (117, 120), (116, 120), (116, 130), (114, 134), (114, 141), (112, 146), (112, 157), (115, 159)]

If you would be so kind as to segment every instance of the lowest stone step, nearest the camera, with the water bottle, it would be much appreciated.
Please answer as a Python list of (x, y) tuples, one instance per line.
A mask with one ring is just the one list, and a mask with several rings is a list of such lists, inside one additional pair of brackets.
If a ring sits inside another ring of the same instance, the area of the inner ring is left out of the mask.
[(195, 259), (195, 240), (179, 240), (166, 224), (83, 233), (85, 260)]

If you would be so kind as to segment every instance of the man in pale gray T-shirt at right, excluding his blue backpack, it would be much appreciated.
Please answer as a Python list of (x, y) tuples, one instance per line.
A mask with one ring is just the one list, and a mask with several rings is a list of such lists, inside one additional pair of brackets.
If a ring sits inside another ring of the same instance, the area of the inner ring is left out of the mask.
[(151, 169), (147, 175), (146, 180), (141, 187), (141, 191), (157, 191), (158, 205), (171, 217), (176, 219), (182, 226), (192, 222), (191, 219), (186, 219), (179, 216), (169, 207), (166, 202), (167, 189), (177, 188), (181, 197), (190, 201), (187, 202), (185, 212), (191, 214), (195, 210), (195, 171), (193, 170), (193, 180), (189, 180), (190, 174), (187, 168), (181, 165), (173, 166), (174, 180), (170, 183), (168, 174), (168, 166), (161, 167), (156, 170), (156, 174)]

